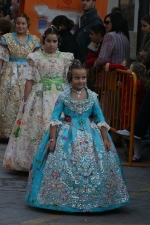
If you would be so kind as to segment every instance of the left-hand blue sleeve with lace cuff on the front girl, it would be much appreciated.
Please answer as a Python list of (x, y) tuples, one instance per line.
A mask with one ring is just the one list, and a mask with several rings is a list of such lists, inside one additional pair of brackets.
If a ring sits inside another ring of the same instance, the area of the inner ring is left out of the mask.
[(61, 114), (63, 111), (64, 111), (64, 103), (63, 103), (61, 97), (59, 96), (55, 103), (53, 112), (52, 112), (52, 116), (50, 119), (50, 125), (55, 126), (55, 125), (62, 124)]

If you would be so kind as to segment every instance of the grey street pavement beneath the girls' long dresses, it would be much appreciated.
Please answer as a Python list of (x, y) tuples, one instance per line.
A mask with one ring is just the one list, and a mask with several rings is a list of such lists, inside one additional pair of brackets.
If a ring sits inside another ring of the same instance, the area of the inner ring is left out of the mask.
[[(123, 167), (131, 204), (95, 214), (71, 214), (32, 208), (25, 202), (27, 172), (2, 166), (7, 143), (0, 143), (0, 225), (150, 225), (150, 168)], [(124, 153), (118, 148), (121, 161)], [(143, 159), (150, 159), (150, 147)]]

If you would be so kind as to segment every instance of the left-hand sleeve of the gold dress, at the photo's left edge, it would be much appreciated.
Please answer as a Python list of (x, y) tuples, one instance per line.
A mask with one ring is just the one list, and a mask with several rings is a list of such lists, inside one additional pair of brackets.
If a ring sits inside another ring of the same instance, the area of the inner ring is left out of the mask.
[(4, 60), (5, 62), (9, 61), (9, 51), (4, 37), (1, 37), (0, 40), (0, 59)]

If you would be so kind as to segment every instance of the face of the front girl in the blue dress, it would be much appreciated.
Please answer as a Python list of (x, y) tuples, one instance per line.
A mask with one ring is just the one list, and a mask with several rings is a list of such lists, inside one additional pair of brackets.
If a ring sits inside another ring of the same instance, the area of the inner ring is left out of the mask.
[(87, 83), (86, 69), (73, 69), (72, 70), (72, 87), (75, 90), (82, 90)]

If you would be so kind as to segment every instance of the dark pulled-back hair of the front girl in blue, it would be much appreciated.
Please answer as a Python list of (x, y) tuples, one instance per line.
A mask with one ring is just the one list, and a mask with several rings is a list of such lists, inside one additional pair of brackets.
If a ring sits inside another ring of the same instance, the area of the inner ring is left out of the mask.
[(74, 69), (85, 69), (87, 71), (87, 68), (81, 64), (80, 60), (74, 59), (69, 67), (68, 73), (67, 73), (67, 80), (69, 83), (72, 81), (72, 71)]

